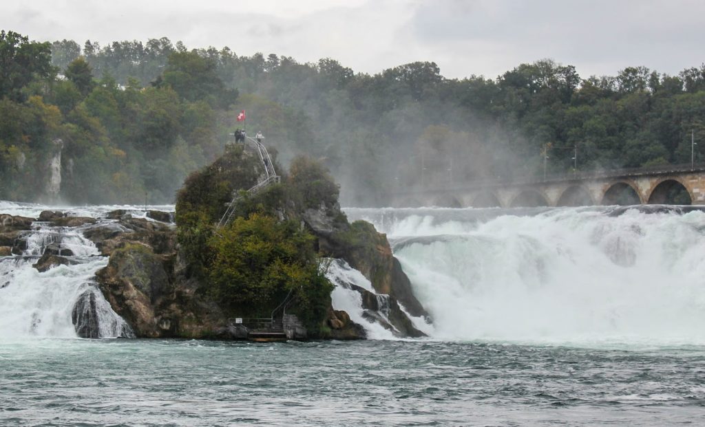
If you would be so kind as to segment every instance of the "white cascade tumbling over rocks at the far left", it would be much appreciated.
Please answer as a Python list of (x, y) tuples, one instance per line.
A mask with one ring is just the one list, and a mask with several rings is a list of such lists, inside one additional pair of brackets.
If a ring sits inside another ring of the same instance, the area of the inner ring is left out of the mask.
[[(37, 222), (23, 239), (21, 256), (0, 257), (1, 337), (134, 337), (94, 283), (108, 259), (80, 228)], [(38, 271), (33, 264), (49, 255), (68, 265)]]

